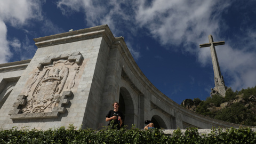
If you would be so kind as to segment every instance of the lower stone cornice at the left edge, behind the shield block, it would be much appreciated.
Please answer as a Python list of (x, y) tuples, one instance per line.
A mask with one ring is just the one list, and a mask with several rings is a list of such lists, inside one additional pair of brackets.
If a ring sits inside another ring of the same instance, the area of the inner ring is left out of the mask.
[(31, 59), (9, 62), (9, 63), (2, 63), (0, 64), (0, 73), (26, 69), (30, 61)]

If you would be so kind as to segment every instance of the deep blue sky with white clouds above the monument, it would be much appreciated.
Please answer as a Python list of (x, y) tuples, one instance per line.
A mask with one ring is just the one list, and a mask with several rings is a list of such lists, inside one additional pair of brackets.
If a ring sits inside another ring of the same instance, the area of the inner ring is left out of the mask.
[(142, 72), (177, 103), (214, 87), (208, 35), (233, 90), (256, 85), (256, 1), (0, 0), (0, 63), (33, 58), (33, 38), (107, 24)]

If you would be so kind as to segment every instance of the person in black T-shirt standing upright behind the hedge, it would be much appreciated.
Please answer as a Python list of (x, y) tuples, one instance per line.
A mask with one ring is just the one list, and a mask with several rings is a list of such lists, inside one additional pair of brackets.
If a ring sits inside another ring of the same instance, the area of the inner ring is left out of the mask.
[(108, 125), (110, 125), (112, 129), (117, 125), (117, 129), (119, 130), (123, 124), (124, 115), (118, 110), (120, 106), (118, 102), (114, 102), (112, 106), (114, 107), (114, 110), (108, 111), (108, 114), (106, 115), (106, 122), (109, 122)]

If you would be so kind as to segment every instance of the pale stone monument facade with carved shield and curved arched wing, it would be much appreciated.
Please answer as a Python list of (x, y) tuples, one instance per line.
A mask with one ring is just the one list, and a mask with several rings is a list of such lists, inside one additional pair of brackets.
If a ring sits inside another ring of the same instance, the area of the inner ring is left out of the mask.
[[(34, 39), (30, 60), (0, 64), (0, 127), (101, 129), (119, 102), (129, 127), (239, 127), (183, 108), (142, 73), (123, 37), (107, 25)], [(218, 83), (222, 84), (218, 79)]]

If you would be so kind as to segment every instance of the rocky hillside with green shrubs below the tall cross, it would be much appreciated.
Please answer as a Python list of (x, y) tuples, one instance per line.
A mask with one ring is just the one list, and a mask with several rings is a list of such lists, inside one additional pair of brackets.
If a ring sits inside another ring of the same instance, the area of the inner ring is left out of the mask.
[(181, 105), (196, 113), (221, 121), (256, 126), (256, 86), (246, 90), (228, 90), (225, 98), (213, 95), (200, 99), (186, 99)]

